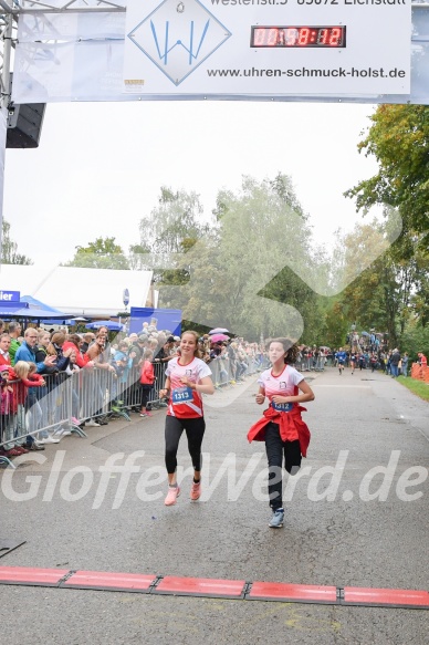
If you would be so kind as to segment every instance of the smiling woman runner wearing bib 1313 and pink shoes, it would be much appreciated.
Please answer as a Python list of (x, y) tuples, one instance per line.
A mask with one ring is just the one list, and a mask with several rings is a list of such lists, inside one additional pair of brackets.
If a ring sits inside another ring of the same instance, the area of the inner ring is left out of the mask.
[(201, 444), (206, 429), (201, 394), (213, 394), (214, 386), (210, 367), (198, 357), (198, 339), (197, 332), (182, 333), (180, 356), (168, 362), (165, 389), (159, 392), (161, 398), (169, 395), (165, 429), (168, 475), (166, 506), (174, 506), (180, 495), (176, 469), (177, 450), (184, 430), (195, 471), (190, 499), (196, 501), (201, 495)]

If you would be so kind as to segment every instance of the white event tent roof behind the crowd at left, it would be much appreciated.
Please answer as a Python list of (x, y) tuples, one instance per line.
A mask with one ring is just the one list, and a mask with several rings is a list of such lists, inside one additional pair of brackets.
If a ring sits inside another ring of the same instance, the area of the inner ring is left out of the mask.
[[(80, 269), (48, 264), (1, 264), (0, 289), (19, 291), (72, 316), (111, 318), (130, 306), (156, 306), (153, 271)], [(155, 302), (154, 302), (155, 300)]]

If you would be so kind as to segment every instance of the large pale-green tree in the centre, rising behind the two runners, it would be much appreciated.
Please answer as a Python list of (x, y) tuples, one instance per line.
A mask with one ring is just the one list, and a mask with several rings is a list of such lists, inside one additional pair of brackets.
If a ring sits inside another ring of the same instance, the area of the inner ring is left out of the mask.
[(238, 194), (220, 191), (217, 226), (178, 260), (189, 281), (163, 289), (163, 305), (249, 340), (300, 337), (304, 316), (316, 318), (316, 297), (291, 269), (314, 270), (311, 230), (296, 204), (291, 180), (282, 175), (260, 183), (244, 177)]

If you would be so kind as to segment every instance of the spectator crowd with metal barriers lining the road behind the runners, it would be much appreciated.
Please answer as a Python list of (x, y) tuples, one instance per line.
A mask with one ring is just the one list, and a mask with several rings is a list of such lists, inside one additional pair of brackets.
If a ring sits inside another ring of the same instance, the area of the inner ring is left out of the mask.
[[(214, 386), (241, 383), (270, 363), (263, 343), (242, 337), (213, 342), (199, 339), (200, 356), (210, 363)], [(180, 354), (180, 339), (156, 324), (143, 323), (140, 332), (123, 333), (109, 341), (106, 326), (95, 333), (48, 331), (0, 320), (0, 456), (12, 458), (43, 450), (73, 429), (108, 424), (113, 416), (132, 412), (151, 416), (166, 363)], [(426, 365), (423, 353), (417, 356)], [(389, 350), (378, 334), (349, 334), (345, 347), (301, 345), (295, 367), (322, 372), (326, 366), (379, 370), (391, 377), (408, 376), (410, 360), (398, 347)], [(67, 388), (67, 397), (62, 393)], [(64, 400), (69, 407), (64, 409)], [(108, 406), (106, 400), (108, 399)], [(63, 408), (62, 408), (63, 406)], [(65, 423), (69, 420), (69, 423)]]

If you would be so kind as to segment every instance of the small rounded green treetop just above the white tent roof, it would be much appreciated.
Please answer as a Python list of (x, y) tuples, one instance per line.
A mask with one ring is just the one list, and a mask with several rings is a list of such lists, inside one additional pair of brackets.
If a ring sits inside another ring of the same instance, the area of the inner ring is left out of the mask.
[(122, 247), (116, 245), (115, 238), (97, 238), (87, 247), (76, 247), (73, 260), (64, 266), (84, 269), (129, 269), (129, 261)]

